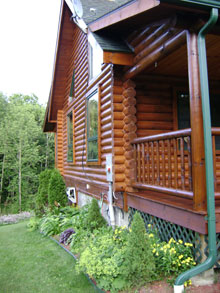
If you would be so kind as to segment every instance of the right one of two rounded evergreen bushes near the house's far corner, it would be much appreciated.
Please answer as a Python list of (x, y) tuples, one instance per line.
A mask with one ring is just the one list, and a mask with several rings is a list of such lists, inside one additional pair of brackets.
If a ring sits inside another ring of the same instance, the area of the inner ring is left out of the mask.
[(48, 186), (48, 203), (51, 209), (67, 204), (66, 186), (60, 172), (55, 169), (51, 174)]

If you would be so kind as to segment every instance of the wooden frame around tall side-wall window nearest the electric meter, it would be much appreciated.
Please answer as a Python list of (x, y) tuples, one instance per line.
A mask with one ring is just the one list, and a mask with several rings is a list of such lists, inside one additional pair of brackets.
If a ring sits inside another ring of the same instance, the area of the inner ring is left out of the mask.
[[(97, 136), (89, 137), (89, 107), (88, 103), (90, 98), (92, 98), (94, 95), (98, 96), (98, 129), (97, 129)], [(87, 97), (86, 97), (86, 162), (88, 165), (100, 165), (101, 164), (101, 127), (100, 127), (100, 86), (96, 89), (92, 89), (91, 91), (88, 92)], [(97, 159), (89, 159), (88, 158), (88, 143), (89, 141), (95, 141), (97, 140), (97, 152), (98, 152), (98, 157)]]

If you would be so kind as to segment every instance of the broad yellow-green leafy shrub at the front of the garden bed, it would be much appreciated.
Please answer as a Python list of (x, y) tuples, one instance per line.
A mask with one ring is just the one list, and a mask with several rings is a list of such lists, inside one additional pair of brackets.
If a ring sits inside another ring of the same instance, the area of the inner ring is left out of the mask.
[(110, 227), (96, 230), (81, 254), (77, 270), (95, 278), (104, 290), (121, 290), (127, 287), (126, 278), (121, 277), (124, 249), (117, 245)]

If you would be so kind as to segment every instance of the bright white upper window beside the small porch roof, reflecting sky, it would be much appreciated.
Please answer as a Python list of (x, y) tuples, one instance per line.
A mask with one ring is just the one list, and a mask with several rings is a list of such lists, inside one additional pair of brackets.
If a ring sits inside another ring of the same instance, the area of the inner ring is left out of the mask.
[(96, 77), (101, 72), (103, 63), (103, 51), (92, 33), (88, 36), (89, 40), (89, 79)]

